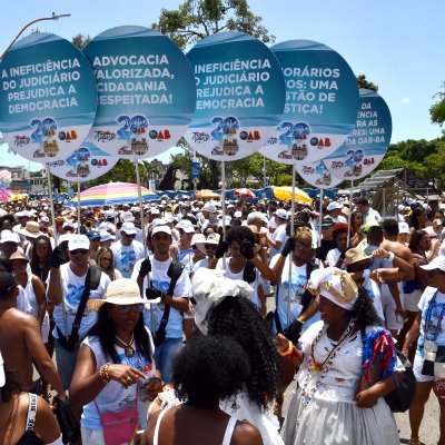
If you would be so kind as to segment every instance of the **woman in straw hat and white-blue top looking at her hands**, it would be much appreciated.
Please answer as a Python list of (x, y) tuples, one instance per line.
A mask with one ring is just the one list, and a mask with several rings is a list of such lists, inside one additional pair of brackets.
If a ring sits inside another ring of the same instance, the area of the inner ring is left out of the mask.
[(137, 283), (127, 278), (111, 281), (103, 299), (88, 303), (98, 310), (98, 320), (80, 347), (70, 387), (71, 404), (83, 406), (83, 444), (105, 443), (105, 417), (130, 416), (132, 429), (125, 443), (131, 442), (138, 425), (146, 426), (148, 402), (162, 382), (151, 334), (144, 326), (145, 304)]

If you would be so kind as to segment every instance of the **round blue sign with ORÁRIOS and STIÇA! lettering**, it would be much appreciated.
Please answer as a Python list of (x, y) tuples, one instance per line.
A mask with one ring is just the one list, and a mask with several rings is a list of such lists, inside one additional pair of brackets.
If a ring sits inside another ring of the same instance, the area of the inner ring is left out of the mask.
[(270, 49), (283, 67), (286, 106), (261, 154), (283, 164), (328, 157), (354, 129), (358, 87), (353, 70), (340, 55), (315, 41), (288, 40)]

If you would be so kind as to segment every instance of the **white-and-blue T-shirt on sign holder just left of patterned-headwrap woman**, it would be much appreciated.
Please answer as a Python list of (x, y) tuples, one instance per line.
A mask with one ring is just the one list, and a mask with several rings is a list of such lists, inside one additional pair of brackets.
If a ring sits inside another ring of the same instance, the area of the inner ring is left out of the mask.
[[(276, 255), (270, 261), (270, 268), (274, 268), (277, 263), (279, 256)], [(277, 312), (278, 317), (281, 323), (283, 329), (287, 328), (287, 301), (289, 295), (289, 260), (290, 255), (287, 256), (285, 265), (283, 267), (281, 276), (279, 277), (278, 284), (278, 305)], [(290, 324), (295, 322), (298, 316), (301, 314), (303, 305), (301, 297), (305, 293), (306, 284), (308, 277), (306, 276), (307, 266), (303, 265), (297, 267), (294, 261), (291, 264), (291, 286), (290, 286)], [(313, 317), (314, 318), (314, 317)], [(306, 327), (306, 324), (305, 324)]]

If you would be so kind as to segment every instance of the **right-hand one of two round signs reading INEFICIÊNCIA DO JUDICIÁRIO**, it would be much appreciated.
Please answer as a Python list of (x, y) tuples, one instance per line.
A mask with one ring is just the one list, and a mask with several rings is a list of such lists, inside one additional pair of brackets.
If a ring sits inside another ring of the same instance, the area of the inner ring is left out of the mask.
[(207, 37), (187, 57), (197, 88), (188, 144), (216, 160), (257, 151), (275, 132), (285, 105), (277, 58), (259, 40), (234, 31)]

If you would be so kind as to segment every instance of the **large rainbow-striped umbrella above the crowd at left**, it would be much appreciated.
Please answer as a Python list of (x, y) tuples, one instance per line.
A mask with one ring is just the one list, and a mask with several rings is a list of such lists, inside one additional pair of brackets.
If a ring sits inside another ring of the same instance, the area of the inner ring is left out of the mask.
[[(154, 191), (141, 188), (142, 201), (160, 199)], [(102, 186), (87, 188), (80, 192), (80, 205), (86, 207), (111, 206), (113, 204), (130, 204), (138, 201), (138, 185), (128, 182), (109, 182)], [(77, 205), (77, 197), (69, 201)]]

